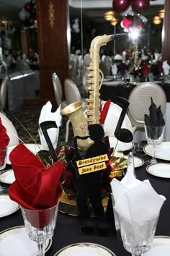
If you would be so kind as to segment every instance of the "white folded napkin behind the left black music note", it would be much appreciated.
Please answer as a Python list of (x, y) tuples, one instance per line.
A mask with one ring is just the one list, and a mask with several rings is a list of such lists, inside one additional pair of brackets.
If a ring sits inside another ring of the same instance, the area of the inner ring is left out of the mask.
[[(44, 106), (42, 106), (42, 110), (40, 112), (40, 118), (39, 118), (39, 125), (43, 121), (55, 121), (57, 124), (57, 129), (56, 128), (50, 128), (48, 129), (48, 136), (50, 137), (50, 140), (53, 144), (54, 149), (57, 147), (58, 143), (58, 134), (59, 134), (59, 127), (61, 127), (61, 105), (57, 108), (55, 112), (51, 112), (52, 105), (50, 101), (48, 101)], [(48, 150), (48, 145), (46, 143), (45, 137), (42, 134), (42, 130), (39, 129), (39, 135), (40, 135), (40, 141), (44, 149)]]

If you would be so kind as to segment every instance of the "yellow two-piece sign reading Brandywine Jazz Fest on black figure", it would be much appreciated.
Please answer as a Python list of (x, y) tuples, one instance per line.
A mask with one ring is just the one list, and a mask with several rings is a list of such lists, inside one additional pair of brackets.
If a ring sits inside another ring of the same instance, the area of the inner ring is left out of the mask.
[(79, 161), (76, 161), (77, 166), (79, 167), (79, 174), (89, 174), (90, 172), (100, 171), (107, 168), (105, 161), (108, 161), (109, 158), (107, 154), (98, 155), (94, 158), (86, 158)]

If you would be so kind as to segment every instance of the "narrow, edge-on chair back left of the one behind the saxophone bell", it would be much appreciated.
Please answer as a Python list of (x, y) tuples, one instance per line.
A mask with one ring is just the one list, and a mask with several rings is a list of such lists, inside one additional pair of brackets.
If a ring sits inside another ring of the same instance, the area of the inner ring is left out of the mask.
[(52, 74), (52, 81), (53, 81), (55, 102), (59, 106), (62, 101), (62, 87), (61, 87), (61, 81), (59, 80), (58, 75), (55, 72)]

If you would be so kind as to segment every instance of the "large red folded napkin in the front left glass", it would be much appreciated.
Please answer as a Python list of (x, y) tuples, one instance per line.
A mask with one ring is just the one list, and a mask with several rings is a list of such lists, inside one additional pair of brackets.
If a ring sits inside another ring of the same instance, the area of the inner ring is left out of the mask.
[(9, 196), (23, 208), (39, 210), (57, 204), (62, 194), (60, 178), (65, 167), (58, 161), (47, 168), (22, 143), (9, 155), (16, 181), (9, 187)]

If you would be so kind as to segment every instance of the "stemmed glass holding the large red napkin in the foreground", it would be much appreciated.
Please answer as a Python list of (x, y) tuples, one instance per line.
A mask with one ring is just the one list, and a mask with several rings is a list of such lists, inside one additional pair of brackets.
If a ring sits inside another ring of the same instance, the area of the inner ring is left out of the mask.
[(53, 237), (58, 204), (42, 210), (29, 210), (21, 206), (21, 210), (30, 239), (37, 242), (39, 256), (45, 256), (45, 244)]

